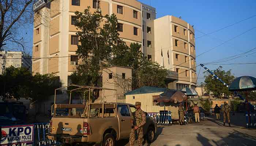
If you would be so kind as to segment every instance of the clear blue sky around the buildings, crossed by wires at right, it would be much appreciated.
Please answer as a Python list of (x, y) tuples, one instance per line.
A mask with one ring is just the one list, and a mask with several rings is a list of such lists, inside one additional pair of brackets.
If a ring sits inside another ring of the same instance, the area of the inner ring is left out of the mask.
[[(196, 55), (207, 51), (196, 57), (197, 65), (244, 53), (256, 47), (256, 0), (214, 0), (207, 1), (207, 3), (205, 0), (139, 1), (155, 7), (157, 18), (166, 15), (181, 16), (181, 19), (194, 26), (195, 38), (200, 37), (195, 40)], [(243, 21), (240, 22), (241, 20)], [(230, 24), (234, 25), (229, 26)], [(207, 34), (224, 27), (226, 28), (201, 37), (203, 33)], [(26, 26), (25, 30), (27, 34), (24, 34), (23, 37), (28, 42), (27, 50), (32, 52), (33, 25)], [(242, 34), (243, 32), (245, 33)], [(256, 49), (249, 52), (248, 55), (221, 63), (247, 62), (256, 62)], [(206, 67), (211, 70), (217, 69), (218, 66), (219, 65), (206, 65)], [(256, 77), (256, 64), (222, 66), (223, 70), (231, 69), (231, 72), (236, 77)], [(199, 74), (197, 80), (198, 85), (204, 81), (203, 72), (205, 71), (202, 68), (199, 73), (199, 70), (200, 66), (197, 67), (197, 74)]]

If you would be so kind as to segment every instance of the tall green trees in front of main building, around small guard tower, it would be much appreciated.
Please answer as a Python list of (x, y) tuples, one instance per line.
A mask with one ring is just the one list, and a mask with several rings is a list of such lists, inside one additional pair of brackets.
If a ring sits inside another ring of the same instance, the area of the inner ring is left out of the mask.
[(79, 30), (76, 34), (80, 41), (76, 54), (83, 64), (78, 65), (77, 71), (71, 74), (72, 83), (102, 86), (101, 68), (118, 65), (133, 68), (132, 89), (142, 86), (166, 87), (166, 70), (156, 62), (143, 58), (140, 44), (131, 43), (128, 47), (119, 38), (116, 15), (90, 14), (89, 8), (83, 13), (75, 12)]

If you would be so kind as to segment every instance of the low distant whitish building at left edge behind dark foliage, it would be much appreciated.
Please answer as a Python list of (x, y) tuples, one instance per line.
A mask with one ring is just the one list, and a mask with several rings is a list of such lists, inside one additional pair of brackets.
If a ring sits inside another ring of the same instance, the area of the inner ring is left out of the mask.
[(0, 52), (0, 74), (4, 68), (14, 66), (15, 68), (25, 67), (30, 69), (32, 67), (32, 61), (29, 55), (25, 55), (20, 51), (1, 51)]

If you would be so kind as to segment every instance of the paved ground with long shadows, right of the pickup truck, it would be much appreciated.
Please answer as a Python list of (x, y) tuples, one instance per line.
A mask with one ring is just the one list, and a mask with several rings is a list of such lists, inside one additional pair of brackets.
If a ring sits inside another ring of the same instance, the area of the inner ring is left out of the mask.
[[(231, 127), (222, 126), (222, 121), (212, 116), (185, 126), (158, 126), (157, 139), (144, 146), (256, 146), (256, 129), (242, 127), (244, 123), (239, 121), (243, 114), (233, 116), (237, 122)], [(128, 140), (119, 141), (117, 146), (129, 146)]]

